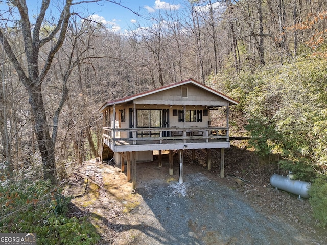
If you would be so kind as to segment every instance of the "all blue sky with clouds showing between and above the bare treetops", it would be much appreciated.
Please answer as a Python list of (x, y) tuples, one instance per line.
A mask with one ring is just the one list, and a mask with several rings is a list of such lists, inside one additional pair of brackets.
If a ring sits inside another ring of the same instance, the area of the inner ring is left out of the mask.
[[(98, 3), (85, 3), (87, 1), (88, 0), (73, 0), (73, 3), (82, 2), (82, 4), (73, 5), (72, 11), (79, 13), (80, 16), (85, 16), (97, 22), (101, 22), (109, 30), (120, 33), (128, 33), (130, 30), (136, 29), (137, 26), (150, 27), (153, 24), (145, 18), (137, 16), (137, 14), (134, 14), (132, 11), (149, 18), (149, 16), (156, 16), (159, 11), (168, 10), (172, 12), (183, 12), (185, 11), (185, 3), (188, 3), (188, 0), (111, 0), (111, 2), (119, 2), (122, 6), (125, 6), (124, 8), (106, 0), (101, 0)], [(220, 2), (218, 0), (215, 1), (215, 8), (218, 9)], [(0, 0), (0, 19), (2, 18), (3, 20), (8, 19), (8, 14), (5, 12), (6, 9), (8, 9), (6, 2), (6, 0)], [(27, 0), (31, 19), (38, 14), (41, 3), (42, 0)], [(53, 14), (59, 14), (57, 10), (62, 8), (60, 4), (60, 0), (51, 1), (48, 12), (50, 17)], [(198, 11), (201, 11), (204, 15), (205, 12), (207, 12), (207, 6), (205, 4), (204, 1), (196, 7)], [(15, 11), (17, 10), (15, 9)], [(15, 16), (15, 13), (13, 13), (12, 18), (15, 18)]]

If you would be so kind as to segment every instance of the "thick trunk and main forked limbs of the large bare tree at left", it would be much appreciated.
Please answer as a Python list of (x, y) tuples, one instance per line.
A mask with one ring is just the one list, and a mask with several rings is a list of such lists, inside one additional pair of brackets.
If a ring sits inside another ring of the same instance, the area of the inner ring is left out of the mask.
[[(55, 137), (54, 139), (50, 137), (50, 129), (48, 121), (46, 120), (41, 85), (46, 74), (48, 74), (55, 54), (59, 51), (65, 40), (68, 22), (71, 18), (70, 8), (72, 5), (72, 0), (67, 0), (65, 2), (58, 18), (57, 25), (50, 33), (48, 33), (48, 36), (43, 37), (43, 39), (40, 39), (40, 30), (42, 28), (42, 23), (44, 22), (44, 17), (46, 16), (46, 11), (50, 5), (50, 1), (41, 1), (40, 11), (35, 18), (35, 23), (30, 22), (31, 19), (28, 14), (29, 11), (26, 1), (21, 0), (11, 2), (19, 12), (19, 29), (21, 30), (22, 40), (24, 41), (24, 58), (26, 59), (27, 65), (25, 65), (24, 62), (20, 62), (20, 58), (17, 59), (17, 49), (15, 49), (16, 44), (10, 44), (8, 42), (4, 32), (5, 29), (0, 29), (0, 42), (2, 43), (9, 60), (13, 64), (20, 81), (25, 86), (25, 89), (29, 94), (29, 103), (31, 104), (35, 120), (35, 132), (38, 147), (42, 157), (44, 179), (50, 179), (52, 184), (57, 184), (57, 171), (54, 152), (56, 139)], [(39, 67), (38, 60), (40, 58), (40, 48), (50, 41), (53, 42), (52, 48), (45, 55), (43, 67)], [(41, 72), (39, 72), (40, 70)]]

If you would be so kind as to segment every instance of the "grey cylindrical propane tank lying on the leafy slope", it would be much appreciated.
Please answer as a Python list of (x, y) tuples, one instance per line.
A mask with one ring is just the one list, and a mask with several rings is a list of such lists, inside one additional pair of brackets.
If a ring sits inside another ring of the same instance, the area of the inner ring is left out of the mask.
[(270, 177), (270, 184), (281, 190), (299, 195), (299, 198), (309, 198), (308, 190), (311, 184), (301, 180), (292, 180), (286, 176), (273, 174)]

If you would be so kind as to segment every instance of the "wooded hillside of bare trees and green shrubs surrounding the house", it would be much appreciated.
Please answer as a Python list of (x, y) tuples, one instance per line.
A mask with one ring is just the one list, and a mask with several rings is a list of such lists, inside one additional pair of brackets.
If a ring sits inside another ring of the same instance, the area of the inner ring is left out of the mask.
[[(2, 232), (35, 226), (42, 237), (58, 222), (82, 232), (54, 186), (99, 156), (100, 106), (188, 78), (240, 102), (230, 136), (250, 136), (262, 161), (277, 155), (273, 164), (312, 182), (314, 217), (327, 225), (326, 1), (179, 1), (182, 12), (161, 9), (128, 33), (74, 12), (74, 1), (39, 2), (34, 15), (26, 1), (0, 11)], [(14, 226), (26, 210), (38, 216)], [(96, 240), (90, 230), (81, 239)]]

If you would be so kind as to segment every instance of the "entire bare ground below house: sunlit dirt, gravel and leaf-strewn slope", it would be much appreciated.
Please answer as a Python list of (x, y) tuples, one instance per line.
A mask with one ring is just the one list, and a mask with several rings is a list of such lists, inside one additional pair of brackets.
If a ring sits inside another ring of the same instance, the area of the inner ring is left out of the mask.
[[(162, 167), (137, 163), (136, 193), (120, 166), (85, 162), (71, 178), (72, 216), (87, 216), (102, 239), (99, 244), (326, 244), (315, 226), (308, 200), (275, 190), (269, 184), (275, 166), (264, 166), (250, 151), (225, 151), (220, 178), (220, 151), (212, 151), (212, 169), (201, 164), (206, 152), (184, 151), (183, 184), (168, 155)], [(125, 168), (126, 169), (126, 168)], [(229, 175), (246, 182), (238, 184)]]

